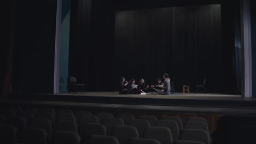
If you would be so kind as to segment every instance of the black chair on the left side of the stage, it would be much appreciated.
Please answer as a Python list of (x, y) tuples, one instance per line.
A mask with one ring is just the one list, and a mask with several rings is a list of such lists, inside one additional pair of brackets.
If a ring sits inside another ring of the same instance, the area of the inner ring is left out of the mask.
[(77, 82), (77, 78), (74, 76), (69, 76), (69, 91), (68, 92), (75, 92), (78, 93), (79, 89), (82, 93), (85, 93), (85, 85), (82, 83)]

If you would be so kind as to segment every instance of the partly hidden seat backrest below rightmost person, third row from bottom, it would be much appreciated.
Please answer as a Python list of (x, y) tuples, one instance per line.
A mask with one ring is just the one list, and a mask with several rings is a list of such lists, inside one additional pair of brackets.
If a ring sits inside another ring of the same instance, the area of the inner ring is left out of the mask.
[(172, 133), (173, 141), (176, 141), (179, 139), (179, 127), (175, 121), (159, 120), (156, 123), (156, 127), (166, 127), (168, 129), (170, 129), (170, 131)]

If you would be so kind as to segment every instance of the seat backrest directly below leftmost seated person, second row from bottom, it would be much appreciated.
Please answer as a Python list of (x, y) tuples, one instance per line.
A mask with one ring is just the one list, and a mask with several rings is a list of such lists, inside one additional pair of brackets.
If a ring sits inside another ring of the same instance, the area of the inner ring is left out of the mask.
[(120, 144), (127, 144), (130, 139), (138, 138), (138, 130), (128, 125), (115, 125), (111, 135), (117, 137)]

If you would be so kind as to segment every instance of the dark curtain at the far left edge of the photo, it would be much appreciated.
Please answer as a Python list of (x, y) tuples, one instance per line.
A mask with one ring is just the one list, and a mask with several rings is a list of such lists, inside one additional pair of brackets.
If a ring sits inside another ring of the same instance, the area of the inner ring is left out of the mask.
[(11, 75), (13, 71), (13, 51), (15, 37), (15, 15), (16, 1), (8, 1), (5, 5), (5, 11), (2, 11), (2, 34), (3, 43), (1, 43), (1, 79), (0, 79), (0, 99), (8, 97), (11, 91)]

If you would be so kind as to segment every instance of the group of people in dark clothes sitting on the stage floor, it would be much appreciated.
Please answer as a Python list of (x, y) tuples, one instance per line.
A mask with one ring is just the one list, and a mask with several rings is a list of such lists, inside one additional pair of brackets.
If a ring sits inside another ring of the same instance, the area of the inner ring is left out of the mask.
[(173, 82), (170, 81), (168, 74), (165, 73), (162, 78), (164, 79), (164, 82), (162, 82), (161, 78), (159, 78), (155, 85), (151, 85), (149, 87), (146, 85), (144, 79), (140, 79), (138, 85), (135, 85), (135, 79), (131, 79), (129, 82), (127, 82), (125, 81), (125, 77), (121, 77), (119, 83), (119, 94), (174, 94), (175, 90)]

